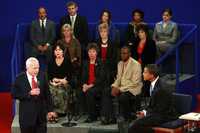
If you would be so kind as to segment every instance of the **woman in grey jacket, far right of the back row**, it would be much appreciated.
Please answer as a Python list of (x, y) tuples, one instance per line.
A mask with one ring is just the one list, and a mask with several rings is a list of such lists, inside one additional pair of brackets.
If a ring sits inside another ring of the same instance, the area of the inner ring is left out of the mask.
[(153, 39), (156, 42), (159, 55), (171, 48), (178, 38), (177, 24), (171, 21), (172, 11), (170, 9), (164, 9), (162, 18), (163, 20), (156, 24), (153, 33)]

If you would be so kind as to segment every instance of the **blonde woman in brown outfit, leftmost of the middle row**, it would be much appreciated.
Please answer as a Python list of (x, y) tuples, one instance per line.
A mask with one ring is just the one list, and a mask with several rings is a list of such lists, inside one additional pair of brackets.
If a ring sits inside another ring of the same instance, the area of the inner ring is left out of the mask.
[(64, 24), (61, 29), (62, 38), (58, 40), (65, 46), (64, 55), (68, 58), (73, 67), (72, 78), (73, 78), (73, 88), (77, 88), (80, 84), (80, 73), (81, 73), (81, 45), (79, 41), (74, 38), (72, 33), (72, 28), (69, 24)]

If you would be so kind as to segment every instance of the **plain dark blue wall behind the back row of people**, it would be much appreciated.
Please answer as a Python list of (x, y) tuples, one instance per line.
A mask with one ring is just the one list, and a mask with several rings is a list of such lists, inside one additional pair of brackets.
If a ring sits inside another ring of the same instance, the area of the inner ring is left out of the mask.
[[(10, 61), (16, 25), (30, 23), (37, 16), (37, 8), (45, 6), (50, 19), (58, 22), (66, 13), (62, 0), (2, 0), (0, 4), (0, 91), (9, 90), (11, 85)], [(112, 12), (114, 22), (128, 22), (131, 11), (140, 8), (145, 12), (146, 22), (161, 20), (163, 8), (170, 7), (173, 19), (178, 23), (200, 24), (199, 0), (76, 0), (81, 15), (89, 22), (96, 22), (102, 9)], [(200, 40), (200, 39), (199, 39)]]

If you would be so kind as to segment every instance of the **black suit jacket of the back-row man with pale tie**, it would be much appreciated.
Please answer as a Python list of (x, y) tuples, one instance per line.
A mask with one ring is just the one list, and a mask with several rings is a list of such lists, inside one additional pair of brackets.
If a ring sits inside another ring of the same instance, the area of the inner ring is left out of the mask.
[[(60, 29), (64, 24), (70, 24), (70, 16), (66, 15), (60, 20)], [(88, 43), (88, 22), (85, 17), (77, 15), (74, 23), (74, 36), (79, 40), (81, 46)]]

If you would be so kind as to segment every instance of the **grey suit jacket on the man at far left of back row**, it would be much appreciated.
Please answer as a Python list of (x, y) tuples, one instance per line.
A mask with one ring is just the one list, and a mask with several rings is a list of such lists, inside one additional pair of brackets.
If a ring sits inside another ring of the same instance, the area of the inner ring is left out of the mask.
[(56, 38), (55, 23), (51, 20), (46, 21), (43, 37), (43, 31), (39, 20), (34, 20), (30, 26), (30, 41), (33, 46), (49, 43), (52, 45)]

